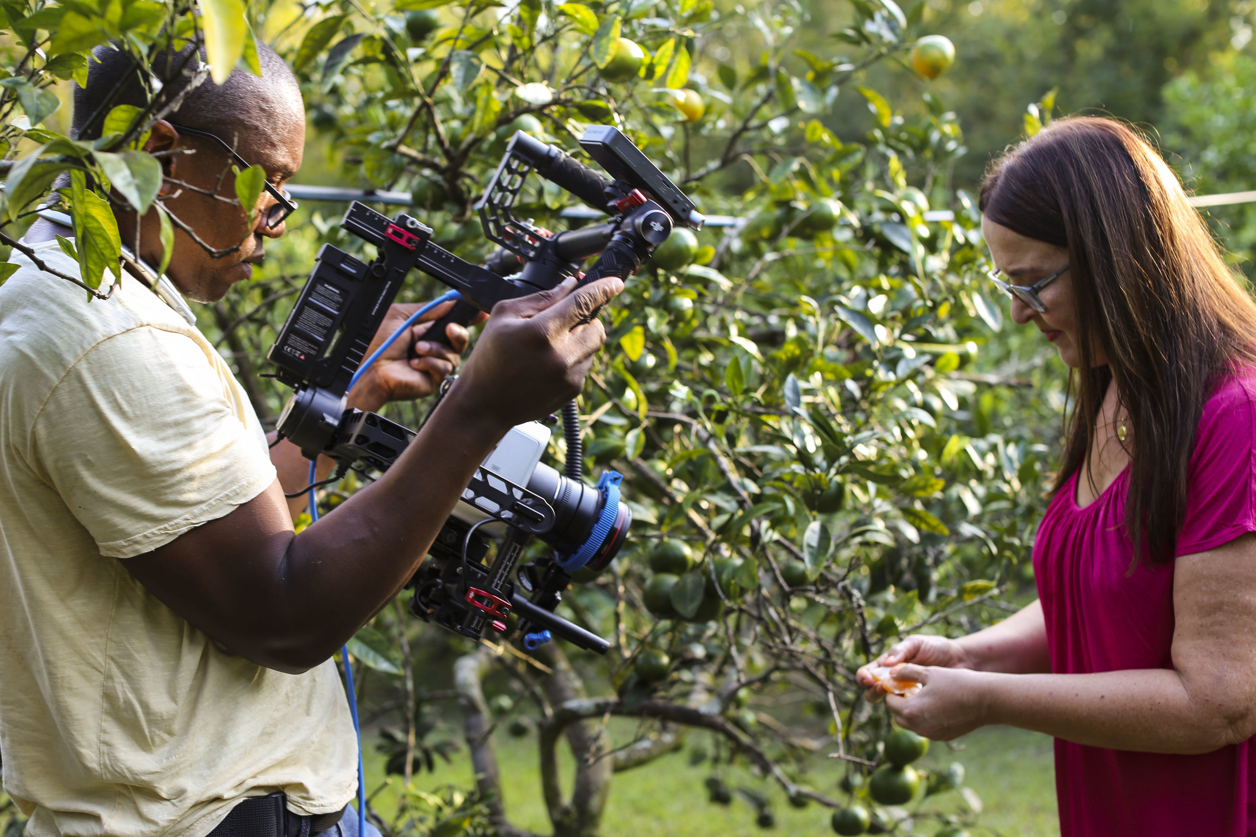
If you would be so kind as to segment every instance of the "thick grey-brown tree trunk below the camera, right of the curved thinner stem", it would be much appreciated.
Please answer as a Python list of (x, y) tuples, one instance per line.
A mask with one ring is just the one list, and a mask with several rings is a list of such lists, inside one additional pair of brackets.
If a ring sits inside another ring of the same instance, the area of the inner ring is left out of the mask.
[[(543, 680), (551, 705), (560, 706), (569, 700), (585, 698), (584, 683), (554, 642), (536, 649), (534, 655), (554, 669)], [(558, 765), (558, 739), (564, 732), (571, 755), (575, 757), (575, 783), (569, 801), (563, 798)], [(594, 837), (602, 824), (614, 772), (614, 759), (605, 757), (605, 738), (599, 725), (592, 720), (546, 722), (541, 725), (540, 750), (541, 788), (554, 824), (554, 837)]]

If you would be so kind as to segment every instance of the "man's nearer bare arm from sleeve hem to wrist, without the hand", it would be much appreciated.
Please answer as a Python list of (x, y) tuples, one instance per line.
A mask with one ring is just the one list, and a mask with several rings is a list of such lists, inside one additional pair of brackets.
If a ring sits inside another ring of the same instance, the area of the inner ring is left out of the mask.
[(506, 429), (451, 392), (387, 473), (300, 535), (276, 481), (198, 527), (196, 538), (129, 558), (127, 568), (232, 653), (303, 671), (334, 654), (413, 576)]

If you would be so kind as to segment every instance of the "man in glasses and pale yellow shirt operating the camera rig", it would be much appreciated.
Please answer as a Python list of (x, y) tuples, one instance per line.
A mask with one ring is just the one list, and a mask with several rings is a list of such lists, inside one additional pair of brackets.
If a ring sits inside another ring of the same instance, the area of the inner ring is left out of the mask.
[[(212, 259), (176, 233), (167, 276), (201, 302), (247, 280), (284, 223), (270, 226), (276, 200), (264, 192), (250, 228), (222, 200), (235, 195), (230, 176), (220, 181), (227, 152), (177, 125), (225, 139), (276, 188), (301, 163), (296, 82), (259, 50), (263, 78), (205, 82), (146, 144), (167, 152), (172, 213), (211, 247), (244, 240)], [(77, 90), (80, 117), (131, 72), (111, 55)], [(118, 222), (124, 242), (138, 225), (138, 260), (160, 264), (156, 211), (119, 211)], [(26, 241), (75, 272), (54, 233), (73, 235), (41, 221)], [(295, 535), (301, 501), (284, 491), (305, 486), (308, 462), (286, 442), (268, 450), (177, 296), (124, 271), (111, 299), (87, 304), (13, 260), (21, 267), (0, 287), (0, 753), (28, 833), (231, 837), (252, 827), (232, 813), (241, 801), (281, 792), (276, 837), (352, 834), (342, 812), (357, 744), (330, 656), (411, 577), (505, 432), (579, 392), (605, 335), (597, 320), (578, 324), (622, 282), (499, 305), (392, 469)], [(397, 309), (381, 335), (413, 306)], [(455, 368), (455, 353), (422, 340), (420, 359), (406, 359), (422, 328), (364, 376), (353, 405), (427, 394)], [(465, 348), (466, 331), (451, 329)]]

